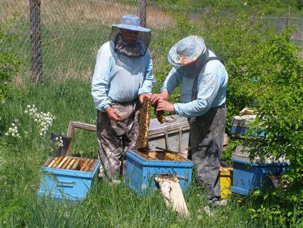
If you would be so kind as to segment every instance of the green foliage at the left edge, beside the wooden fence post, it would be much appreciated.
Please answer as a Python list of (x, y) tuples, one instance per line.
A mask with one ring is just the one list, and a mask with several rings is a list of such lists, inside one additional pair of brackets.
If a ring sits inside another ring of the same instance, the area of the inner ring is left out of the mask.
[(15, 36), (9, 33), (10, 24), (13, 20), (0, 22), (0, 133), (3, 127), (3, 115), (6, 99), (12, 95), (11, 81), (18, 73), (20, 61), (16, 52), (7, 50), (8, 46), (15, 41)]

